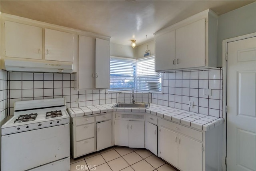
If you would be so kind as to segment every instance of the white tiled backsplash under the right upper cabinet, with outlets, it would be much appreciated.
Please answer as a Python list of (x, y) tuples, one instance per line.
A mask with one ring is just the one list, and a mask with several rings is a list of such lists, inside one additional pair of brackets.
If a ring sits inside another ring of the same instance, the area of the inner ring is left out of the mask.
[[(222, 68), (164, 73), (162, 84), (163, 94), (153, 93), (153, 103), (222, 117)], [(204, 88), (212, 89), (212, 95), (203, 95)]]

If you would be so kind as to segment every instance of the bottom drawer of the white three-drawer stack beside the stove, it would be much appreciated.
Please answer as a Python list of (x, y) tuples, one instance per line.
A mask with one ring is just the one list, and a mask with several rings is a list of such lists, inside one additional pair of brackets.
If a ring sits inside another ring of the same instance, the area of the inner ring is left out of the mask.
[(94, 151), (94, 138), (86, 139), (76, 143), (76, 156), (85, 155)]

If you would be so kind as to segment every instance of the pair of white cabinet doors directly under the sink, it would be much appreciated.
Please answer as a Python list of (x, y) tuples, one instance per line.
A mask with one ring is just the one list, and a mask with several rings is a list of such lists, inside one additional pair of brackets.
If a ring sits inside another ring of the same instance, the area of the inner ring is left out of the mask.
[(115, 120), (115, 145), (145, 148), (144, 121)]

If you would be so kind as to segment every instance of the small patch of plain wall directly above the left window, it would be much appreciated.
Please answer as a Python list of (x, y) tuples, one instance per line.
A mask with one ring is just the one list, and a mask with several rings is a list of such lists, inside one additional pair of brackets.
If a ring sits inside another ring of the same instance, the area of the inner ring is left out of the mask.
[(136, 49), (132, 46), (110, 43), (110, 56), (135, 58)]

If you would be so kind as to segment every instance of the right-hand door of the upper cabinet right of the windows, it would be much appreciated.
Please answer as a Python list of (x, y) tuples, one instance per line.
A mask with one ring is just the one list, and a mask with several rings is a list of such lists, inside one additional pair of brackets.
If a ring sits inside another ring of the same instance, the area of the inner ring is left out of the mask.
[(176, 68), (205, 66), (205, 19), (176, 30)]

